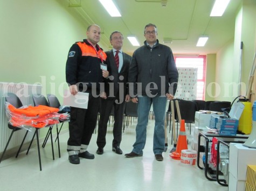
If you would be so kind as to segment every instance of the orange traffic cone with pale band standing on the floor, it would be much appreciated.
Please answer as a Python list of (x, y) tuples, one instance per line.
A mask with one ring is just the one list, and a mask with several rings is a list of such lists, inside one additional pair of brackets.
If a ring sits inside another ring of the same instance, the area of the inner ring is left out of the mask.
[(186, 142), (186, 130), (185, 130), (185, 120), (181, 120), (181, 128), (179, 129), (179, 136), (176, 146), (176, 151), (170, 154), (170, 157), (175, 160), (181, 159), (181, 151), (188, 149), (188, 143)]

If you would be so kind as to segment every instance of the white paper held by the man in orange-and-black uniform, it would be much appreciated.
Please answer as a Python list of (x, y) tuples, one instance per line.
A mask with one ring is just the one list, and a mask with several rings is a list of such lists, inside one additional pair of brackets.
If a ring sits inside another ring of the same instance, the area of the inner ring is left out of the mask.
[(87, 109), (89, 93), (78, 92), (73, 96), (69, 90), (64, 90), (63, 105)]

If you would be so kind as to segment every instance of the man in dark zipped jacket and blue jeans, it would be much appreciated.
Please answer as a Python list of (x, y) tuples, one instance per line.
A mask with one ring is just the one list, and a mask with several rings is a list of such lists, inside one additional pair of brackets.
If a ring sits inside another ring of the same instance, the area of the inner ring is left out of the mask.
[(157, 40), (154, 24), (144, 27), (144, 46), (135, 50), (130, 63), (128, 82), (133, 102), (138, 103), (136, 141), (127, 158), (141, 157), (146, 144), (148, 115), (151, 104), (155, 114), (153, 152), (158, 161), (163, 160), (165, 146), (164, 118), (167, 99), (174, 98), (177, 89), (178, 71), (172, 51)]

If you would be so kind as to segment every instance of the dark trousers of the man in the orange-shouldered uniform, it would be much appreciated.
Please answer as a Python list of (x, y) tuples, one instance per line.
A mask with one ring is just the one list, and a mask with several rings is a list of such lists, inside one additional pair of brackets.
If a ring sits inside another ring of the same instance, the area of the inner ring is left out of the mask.
[(87, 109), (71, 107), (69, 131), (70, 138), (67, 145), (80, 146), (81, 144), (89, 145), (93, 131), (96, 127), (100, 98), (92, 97), (89, 93)]

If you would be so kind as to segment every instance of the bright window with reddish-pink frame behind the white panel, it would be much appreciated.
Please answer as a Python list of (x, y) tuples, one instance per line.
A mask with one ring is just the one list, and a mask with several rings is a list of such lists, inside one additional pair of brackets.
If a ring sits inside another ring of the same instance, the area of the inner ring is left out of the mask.
[(205, 68), (206, 56), (174, 56), (179, 68), (197, 68), (197, 99), (205, 99)]

